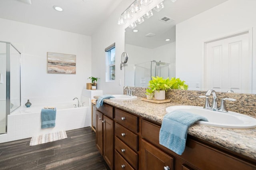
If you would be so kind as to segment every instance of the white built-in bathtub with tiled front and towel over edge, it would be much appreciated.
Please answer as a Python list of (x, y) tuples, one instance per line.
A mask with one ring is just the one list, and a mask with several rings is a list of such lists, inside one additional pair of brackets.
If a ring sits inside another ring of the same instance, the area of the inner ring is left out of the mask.
[[(32, 105), (20, 107), (8, 115), (7, 134), (0, 134), (0, 143), (30, 138), (40, 134), (57, 132), (60, 130), (72, 130), (89, 127), (91, 125), (91, 113), (89, 107), (77, 107), (74, 103), (60, 103), (51, 105)], [(41, 128), (41, 109), (44, 107), (56, 107), (56, 121), (54, 128)]]

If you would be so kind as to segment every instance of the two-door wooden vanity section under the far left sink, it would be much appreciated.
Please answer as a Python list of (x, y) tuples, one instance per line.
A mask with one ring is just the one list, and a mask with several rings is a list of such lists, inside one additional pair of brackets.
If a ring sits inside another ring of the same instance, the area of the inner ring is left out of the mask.
[(113, 115), (113, 107), (106, 104), (96, 110), (96, 147), (110, 169), (114, 169)]

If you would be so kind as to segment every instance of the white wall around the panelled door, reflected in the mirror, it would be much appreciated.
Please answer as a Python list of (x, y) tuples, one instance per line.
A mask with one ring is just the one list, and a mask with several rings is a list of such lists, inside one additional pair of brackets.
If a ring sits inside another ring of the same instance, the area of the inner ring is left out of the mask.
[[(228, 0), (206, 12), (176, 25), (176, 76), (196, 89), (202, 83), (203, 43), (256, 27), (255, 0)], [(255, 29), (253, 39), (256, 39)], [(252, 51), (256, 50), (253, 45)], [(256, 77), (256, 56), (253, 52)], [(256, 86), (256, 80), (253, 82)], [(256, 91), (254, 91), (256, 93)]]

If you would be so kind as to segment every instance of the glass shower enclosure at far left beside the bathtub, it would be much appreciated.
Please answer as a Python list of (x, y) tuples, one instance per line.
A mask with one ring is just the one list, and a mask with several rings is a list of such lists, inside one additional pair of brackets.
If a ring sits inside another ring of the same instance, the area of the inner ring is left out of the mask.
[(7, 132), (7, 116), (21, 105), (20, 55), (12, 43), (0, 41), (0, 134)]

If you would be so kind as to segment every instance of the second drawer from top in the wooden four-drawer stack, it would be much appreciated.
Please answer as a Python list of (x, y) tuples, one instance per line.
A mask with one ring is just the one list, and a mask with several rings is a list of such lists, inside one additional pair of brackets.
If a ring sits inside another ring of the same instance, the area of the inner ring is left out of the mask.
[(115, 124), (115, 135), (128, 144), (132, 149), (138, 151), (138, 135), (130, 130), (122, 127), (118, 123)]

